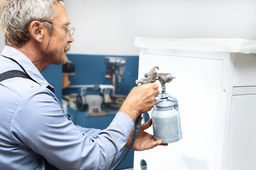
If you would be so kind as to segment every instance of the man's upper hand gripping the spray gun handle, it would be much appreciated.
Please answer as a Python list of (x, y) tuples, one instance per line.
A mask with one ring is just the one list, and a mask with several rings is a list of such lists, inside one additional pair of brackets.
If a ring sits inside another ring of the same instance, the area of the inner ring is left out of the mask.
[(159, 95), (158, 87), (157, 83), (150, 83), (132, 88), (119, 111), (126, 113), (135, 122), (139, 115), (153, 108), (155, 97)]

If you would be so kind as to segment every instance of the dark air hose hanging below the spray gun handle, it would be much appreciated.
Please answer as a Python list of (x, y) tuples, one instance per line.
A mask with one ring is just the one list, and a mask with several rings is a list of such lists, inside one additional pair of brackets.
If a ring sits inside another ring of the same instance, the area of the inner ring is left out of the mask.
[(142, 117), (138, 116), (137, 120), (134, 123), (134, 132), (133, 132), (132, 141), (130, 143), (130, 146), (129, 146), (128, 150), (126, 151), (125, 155), (120, 159), (119, 162), (117, 162), (117, 164), (111, 170), (115, 170), (124, 161), (124, 159), (126, 158), (128, 153), (132, 149), (132, 146), (133, 146), (133, 144), (134, 144), (134, 142), (135, 142), (135, 140), (137, 138), (137, 135), (139, 133), (139, 128), (140, 128), (141, 120), (142, 120)]

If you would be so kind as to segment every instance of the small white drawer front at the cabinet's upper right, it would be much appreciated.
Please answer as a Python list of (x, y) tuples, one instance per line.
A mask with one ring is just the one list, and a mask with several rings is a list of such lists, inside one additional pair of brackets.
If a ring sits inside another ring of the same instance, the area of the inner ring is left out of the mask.
[(234, 86), (256, 86), (256, 54), (236, 53)]

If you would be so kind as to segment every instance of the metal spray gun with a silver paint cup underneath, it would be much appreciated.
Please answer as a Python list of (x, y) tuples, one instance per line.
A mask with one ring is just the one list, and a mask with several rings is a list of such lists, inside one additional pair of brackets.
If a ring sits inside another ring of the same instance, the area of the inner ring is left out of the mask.
[(158, 80), (162, 85), (160, 99), (155, 102), (152, 111), (152, 124), (154, 139), (162, 140), (163, 144), (173, 143), (182, 138), (180, 123), (180, 111), (177, 99), (166, 93), (166, 83), (171, 82), (175, 77), (170, 73), (157, 73), (154, 66), (149, 73), (145, 73), (143, 79), (136, 80), (136, 84), (148, 84)]

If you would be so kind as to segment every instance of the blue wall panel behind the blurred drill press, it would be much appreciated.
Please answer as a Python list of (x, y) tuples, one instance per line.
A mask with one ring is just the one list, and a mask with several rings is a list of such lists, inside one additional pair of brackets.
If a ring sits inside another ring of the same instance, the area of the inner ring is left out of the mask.
[[(71, 85), (81, 84), (112, 84), (111, 79), (105, 79), (105, 57), (110, 55), (79, 55), (69, 54), (68, 59), (75, 64), (75, 75), (70, 75), (69, 79)], [(122, 76), (121, 84), (117, 82), (116, 94), (127, 95), (130, 90), (136, 86), (135, 80), (138, 76), (139, 69), (139, 56), (113, 56), (111, 57), (122, 57), (126, 58), (126, 72), (131, 75), (124, 74)], [(120, 91), (119, 91), (120, 85)], [(78, 89), (76, 89), (78, 90)], [(78, 93), (75, 89), (66, 88), (63, 90), (63, 95), (70, 93)]]

